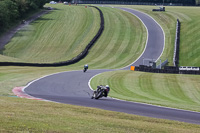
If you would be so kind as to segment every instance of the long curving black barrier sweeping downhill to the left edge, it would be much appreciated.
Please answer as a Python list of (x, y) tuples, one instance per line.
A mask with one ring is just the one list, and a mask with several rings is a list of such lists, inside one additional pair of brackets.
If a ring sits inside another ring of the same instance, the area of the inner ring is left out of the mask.
[(104, 30), (104, 16), (103, 16), (102, 11), (98, 7), (95, 7), (95, 6), (90, 6), (90, 7), (96, 8), (99, 11), (100, 19), (101, 19), (100, 28), (99, 28), (97, 34), (94, 36), (94, 38), (89, 42), (89, 44), (86, 46), (86, 48), (78, 56), (72, 58), (71, 60), (57, 62), (57, 63), (0, 62), (0, 66), (58, 67), (58, 66), (71, 65), (71, 64), (77, 63), (81, 59), (85, 58), (85, 56), (89, 52), (89, 49), (99, 39), (99, 37), (101, 36), (101, 34)]

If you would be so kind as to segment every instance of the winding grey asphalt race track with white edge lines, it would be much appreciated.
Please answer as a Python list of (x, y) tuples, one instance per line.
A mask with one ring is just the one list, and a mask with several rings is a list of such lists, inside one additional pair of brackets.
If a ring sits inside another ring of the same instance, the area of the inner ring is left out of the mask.
[[(131, 65), (137, 66), (142, 64), (143, 58), (159, 59), (164, 48), (165, 40), (162, 28), (154, 19), (144, 13), (127, 8), (120, 9), (137, 16), (146, 26), (148, 32), (146, 48), (142, 55), (138, 60), (123, 69), (129, 69)], [(198, 112), (134, 103), (112, 98), (102, 98), (99, 100), (91, 99), (93, 91), (89, 87), (90, 79), (106, 71), (114, 70), (89, 70), (86, 73), (82, 71), (70, 71), (52, 74), (31, 82), (25, 87), (24, 91), (36, 98), (59, 103), (200, 124), (200, 113)]]

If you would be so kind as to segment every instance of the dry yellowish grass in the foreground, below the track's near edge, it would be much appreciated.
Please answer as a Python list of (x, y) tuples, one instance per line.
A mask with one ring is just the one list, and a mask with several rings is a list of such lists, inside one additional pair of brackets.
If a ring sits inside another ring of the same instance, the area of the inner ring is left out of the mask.
[(21, 98), (0, 98), (0, 132), (198, 133), (199, 125)]

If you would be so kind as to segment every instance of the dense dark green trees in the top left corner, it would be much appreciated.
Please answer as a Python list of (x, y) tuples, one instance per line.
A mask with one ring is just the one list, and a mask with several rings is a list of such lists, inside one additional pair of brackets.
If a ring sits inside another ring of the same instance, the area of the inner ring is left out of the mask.
[(0, 0), (0, 32), (49, 0)]

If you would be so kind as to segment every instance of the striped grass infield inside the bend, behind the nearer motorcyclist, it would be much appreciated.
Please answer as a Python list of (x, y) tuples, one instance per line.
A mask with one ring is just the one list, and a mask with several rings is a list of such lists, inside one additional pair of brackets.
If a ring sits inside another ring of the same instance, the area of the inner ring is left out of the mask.
[(118, 99), (200, 112), (199, 80), (199, 75), (114, 71), (94, 77), (91, 86), (109, 84), (109, 95)]

